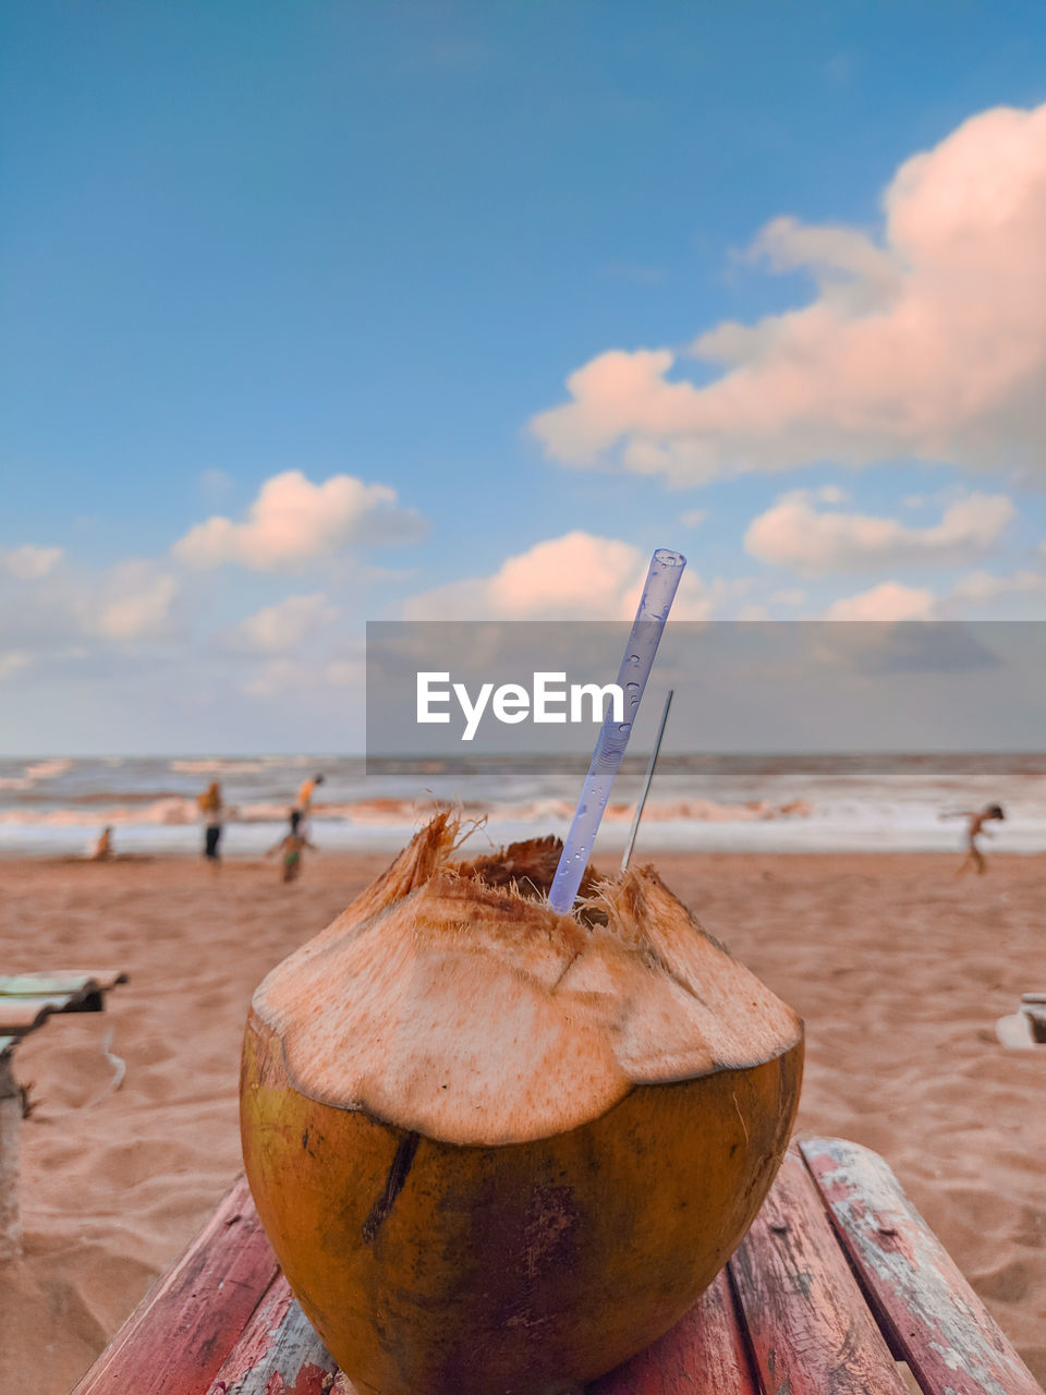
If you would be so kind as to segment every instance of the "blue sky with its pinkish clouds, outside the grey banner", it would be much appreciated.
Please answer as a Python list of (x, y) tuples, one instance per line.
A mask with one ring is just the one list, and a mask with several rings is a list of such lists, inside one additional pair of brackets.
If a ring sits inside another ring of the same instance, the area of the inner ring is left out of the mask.
[(7, 7), (0, 744), (353, 749), (365, 618), (655, 545), (1038, 617), (1045, 73), (1036, 4)]

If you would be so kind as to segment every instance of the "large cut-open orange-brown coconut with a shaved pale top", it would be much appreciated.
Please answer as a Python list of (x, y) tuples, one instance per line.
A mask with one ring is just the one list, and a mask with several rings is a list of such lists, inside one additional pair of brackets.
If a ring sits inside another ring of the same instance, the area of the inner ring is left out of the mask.
[(439, 815), (259, 986), (244, 1161), (358, 1385), (554, 1392), (665, 1332), (736, 1247), (802, 1024), (651, 868), (583, 925), (543, 900), (547, 840), (455, 865), (455, 831)]

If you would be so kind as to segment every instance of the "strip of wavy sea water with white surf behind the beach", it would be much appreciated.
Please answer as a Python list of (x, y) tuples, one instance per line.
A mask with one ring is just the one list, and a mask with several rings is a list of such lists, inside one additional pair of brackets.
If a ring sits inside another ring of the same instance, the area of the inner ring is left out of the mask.
[[(452, 763), (360, 757), (110, 756), (0, 760), (0, 854), (79, 855), (113, 826), (117, 852), (194, 854), (199, 795), (222, 783), (234, 809), (230, 858), (258, 857), (282, 837), (301, 781), (322, 771), (310, 837), (331, 851), (395, 850), (435, 802), (485, 823), (470, 848), (566, 833), (586, 760), (471, 757)], [(597, 851), (619, 851), (646, 755), (629, 756)], [(961, 810), (1001, 804), (987, 848), (1046, 852), (1046, 753), (662, 755), (637, 855), (679, 851), (946, 851), (962, 845)]]

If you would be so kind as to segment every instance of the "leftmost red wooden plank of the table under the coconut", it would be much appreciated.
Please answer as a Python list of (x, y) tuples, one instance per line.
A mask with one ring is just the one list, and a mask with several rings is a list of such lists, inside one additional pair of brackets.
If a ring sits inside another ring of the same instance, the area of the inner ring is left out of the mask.
[(74, 1395), (202, 1395), (278, 1272), (241, 1177)]

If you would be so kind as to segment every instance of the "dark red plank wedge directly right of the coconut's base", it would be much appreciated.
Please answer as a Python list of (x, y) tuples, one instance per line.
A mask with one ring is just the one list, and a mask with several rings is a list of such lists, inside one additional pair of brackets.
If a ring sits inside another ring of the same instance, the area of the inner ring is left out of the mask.
[(671, 1332), (586, 1395), (759, 1395), (727, 1271)]

